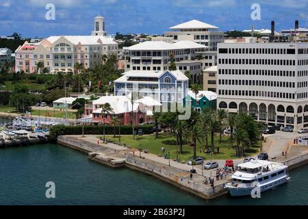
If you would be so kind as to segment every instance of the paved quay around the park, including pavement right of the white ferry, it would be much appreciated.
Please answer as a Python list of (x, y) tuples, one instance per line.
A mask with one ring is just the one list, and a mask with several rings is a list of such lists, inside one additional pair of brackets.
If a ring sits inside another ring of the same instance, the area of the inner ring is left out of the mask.
[[(308, 161), (307, 147), (293, 145), (291, 137), (288, 136), (283, 138), (283, 141), (280, 141), (279, 136), (267, 136), (263, 149), (269, 154), (270, 160), (284, 162), (290, 168), (301, 166)], [(202, 166), (198, 165), (193, 167), (196, 174), (193, 174), (191, 178), (190, 170), (192, 170), (192, 166), (188, 164), (165, 159), (164, 157), (153, 155), (151, 152), (140, 154), (136, 149), (129, 149), (112, 143), (104, 144), (97, 136), (59, 136), (58, 143), (88, 153), (89, 159), (101, 164), (114, 168), (126, 166), (144, 172), (205, 199), (227, 194), (224, 183), (230, 181), (232, 175), (230, 173), (226, 179), (216, 181), (216, 169), (203, 170)], [(287, 157), (281, 155), (281, 151), (285, 150), (288, 151)], [(217, 160), (216, 162), (218, 162), (219, 168), (224, 166), (224, 160)], [(234, 163), (235, 165), (241, 164), (242, 159), (235, 159)], [(203, 183), (205, 177), (214, 178), (214, 188)]]

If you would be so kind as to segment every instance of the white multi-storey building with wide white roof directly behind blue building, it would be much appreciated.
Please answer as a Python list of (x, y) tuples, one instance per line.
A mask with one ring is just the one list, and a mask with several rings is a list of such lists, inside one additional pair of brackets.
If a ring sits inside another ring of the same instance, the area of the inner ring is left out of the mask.
[(189, 71), (193, 81), (198, 81), (202, 66), (196, 56), (206, 48), (191, 41), (179, 41), (173, 44), (163, 41), (142, 42), (125, 48), (125, 71), (167, 70), (170, 66), (170, 55), (173, 54), (177, 69), (182, 73)]

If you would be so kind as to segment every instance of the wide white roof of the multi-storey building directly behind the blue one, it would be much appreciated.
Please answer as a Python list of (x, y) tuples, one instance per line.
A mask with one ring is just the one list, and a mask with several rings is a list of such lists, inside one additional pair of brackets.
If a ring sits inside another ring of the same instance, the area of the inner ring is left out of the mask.
[(174, 44), (164, 42), (164, 41), (146, 41), (131, 47), (128, 47), (128, 50), (175, 50), (175, 49), (204, 49), (207, 48), (205, 45), (198, 44), (196, 42), (191, 42), (188, 40), (183, 40), (176, 42)]

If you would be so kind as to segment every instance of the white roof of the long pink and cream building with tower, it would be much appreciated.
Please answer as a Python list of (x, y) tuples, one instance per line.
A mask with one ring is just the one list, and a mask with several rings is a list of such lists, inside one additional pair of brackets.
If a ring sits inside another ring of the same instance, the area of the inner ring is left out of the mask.
[[(59, 40), (61, 36), (50, 36), (47, 40), (51, 43)], [(98, 40), (101, 40), (103, 44), (118, 44), (114, 41), (114, 38), (107, 38), (105, 36), (63, 36), (66, 40), (72, 42), (73, 44), (81, 44), (84, 45), (94, 45), (99, 44)]]

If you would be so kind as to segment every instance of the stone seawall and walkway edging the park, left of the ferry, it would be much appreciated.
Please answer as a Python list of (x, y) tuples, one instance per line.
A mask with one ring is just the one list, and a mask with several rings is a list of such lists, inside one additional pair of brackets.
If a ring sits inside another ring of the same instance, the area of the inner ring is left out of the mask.
[(113, 168), (125, 166), (138, 170), (204, 199), (212, 199), (227, 194), (224, 183), (220, 181), (216, 182), (214, 188), (211, 188), (211, 186), (202, 182), (204, 178), (201, 175), (194, 175), (193, 179), (190, 179), (190, 172), (133, 156), (129, 153), (130, 149), (117, 151), (107, 146), (100, 145), (98, 147), (97, 144), (78, 140), (73, 136), (59, 136), (57, 142), (71, 149), (88, 153), (89, 159), (100, 164)]

